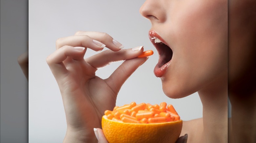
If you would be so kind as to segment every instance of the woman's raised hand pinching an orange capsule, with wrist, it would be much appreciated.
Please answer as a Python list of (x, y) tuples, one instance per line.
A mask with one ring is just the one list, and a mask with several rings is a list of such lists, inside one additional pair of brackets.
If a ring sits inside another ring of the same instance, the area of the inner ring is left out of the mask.
[[(110, 50), (84, 59), (87, 47)], [(47, 63), (58, 83), (67, 120), (64, 142), (97, 142), (93, 128), (101, 128), (105, 110), (113, 110), (117, 93), (126, 79), (146, 60), (136, 58), (143, 47), (120, 49), (123, 46), (100, 32), (76, 32), (56, 41), (56, 51)], [(107, 79), (95, 75), (98, 68), (125, 60)]]

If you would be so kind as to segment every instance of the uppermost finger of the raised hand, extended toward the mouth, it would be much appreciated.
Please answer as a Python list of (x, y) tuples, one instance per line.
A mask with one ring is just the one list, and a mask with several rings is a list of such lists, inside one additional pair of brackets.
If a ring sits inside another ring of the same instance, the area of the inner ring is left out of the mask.
[(78, 31), (75, 35), (88, 35), (92, 39), (98, 40), (106, 45), (112, 51), (119, 51), (124, 46), (117, 40), (114, 40), (110, 35), (103, 32), (92, 32), (92, 31)]

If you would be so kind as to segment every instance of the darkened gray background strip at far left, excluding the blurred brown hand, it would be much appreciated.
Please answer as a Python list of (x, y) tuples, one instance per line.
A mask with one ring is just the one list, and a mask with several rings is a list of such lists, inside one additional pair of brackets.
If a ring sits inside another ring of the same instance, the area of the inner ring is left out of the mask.
[(1, 143), (28, 142), (28, 81), (17, 58), (28, 49), (28, 0), (1, 0)]

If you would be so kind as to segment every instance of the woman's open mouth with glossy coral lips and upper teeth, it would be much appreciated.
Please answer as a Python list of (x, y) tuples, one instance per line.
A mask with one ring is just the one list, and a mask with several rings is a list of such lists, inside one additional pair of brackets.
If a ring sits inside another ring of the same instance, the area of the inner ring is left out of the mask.
[(171, 63), (173, 51), (155, 31), (149, 31), (149, 39), (156, 47), (159, 54), (159, 60), (154, 69), (154, 73), (156, 77), (162, 77)]

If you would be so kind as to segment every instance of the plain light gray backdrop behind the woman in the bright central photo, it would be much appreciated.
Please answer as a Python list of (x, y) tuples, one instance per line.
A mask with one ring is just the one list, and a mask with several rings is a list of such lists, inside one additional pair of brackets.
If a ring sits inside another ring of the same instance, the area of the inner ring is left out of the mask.
[[(54, 52), (55, 41), (76, 31), (100, 31), (111, 35), (125, 48), (144, 46), (153, 50), (137, 71), (125, 82), (117, 105), (145, 102), (173, 104), (183, 120), (202, 117), (202, 103), (197, 93), (183, 99), (170, 99), (162, 91), (161, 80), (153, 69), (158, 54), (148, 38), (149, 20), (139, 14), (144, 1), (119, 0), (31, 0), (29, 1), (29, 141), (62, 142), (66, 119), (57, 83), (46, 57)], [(88, 49), (85, 57), (96, 52)], [(121, 62), (99, 69), (96, 74), (107, 78)]]

